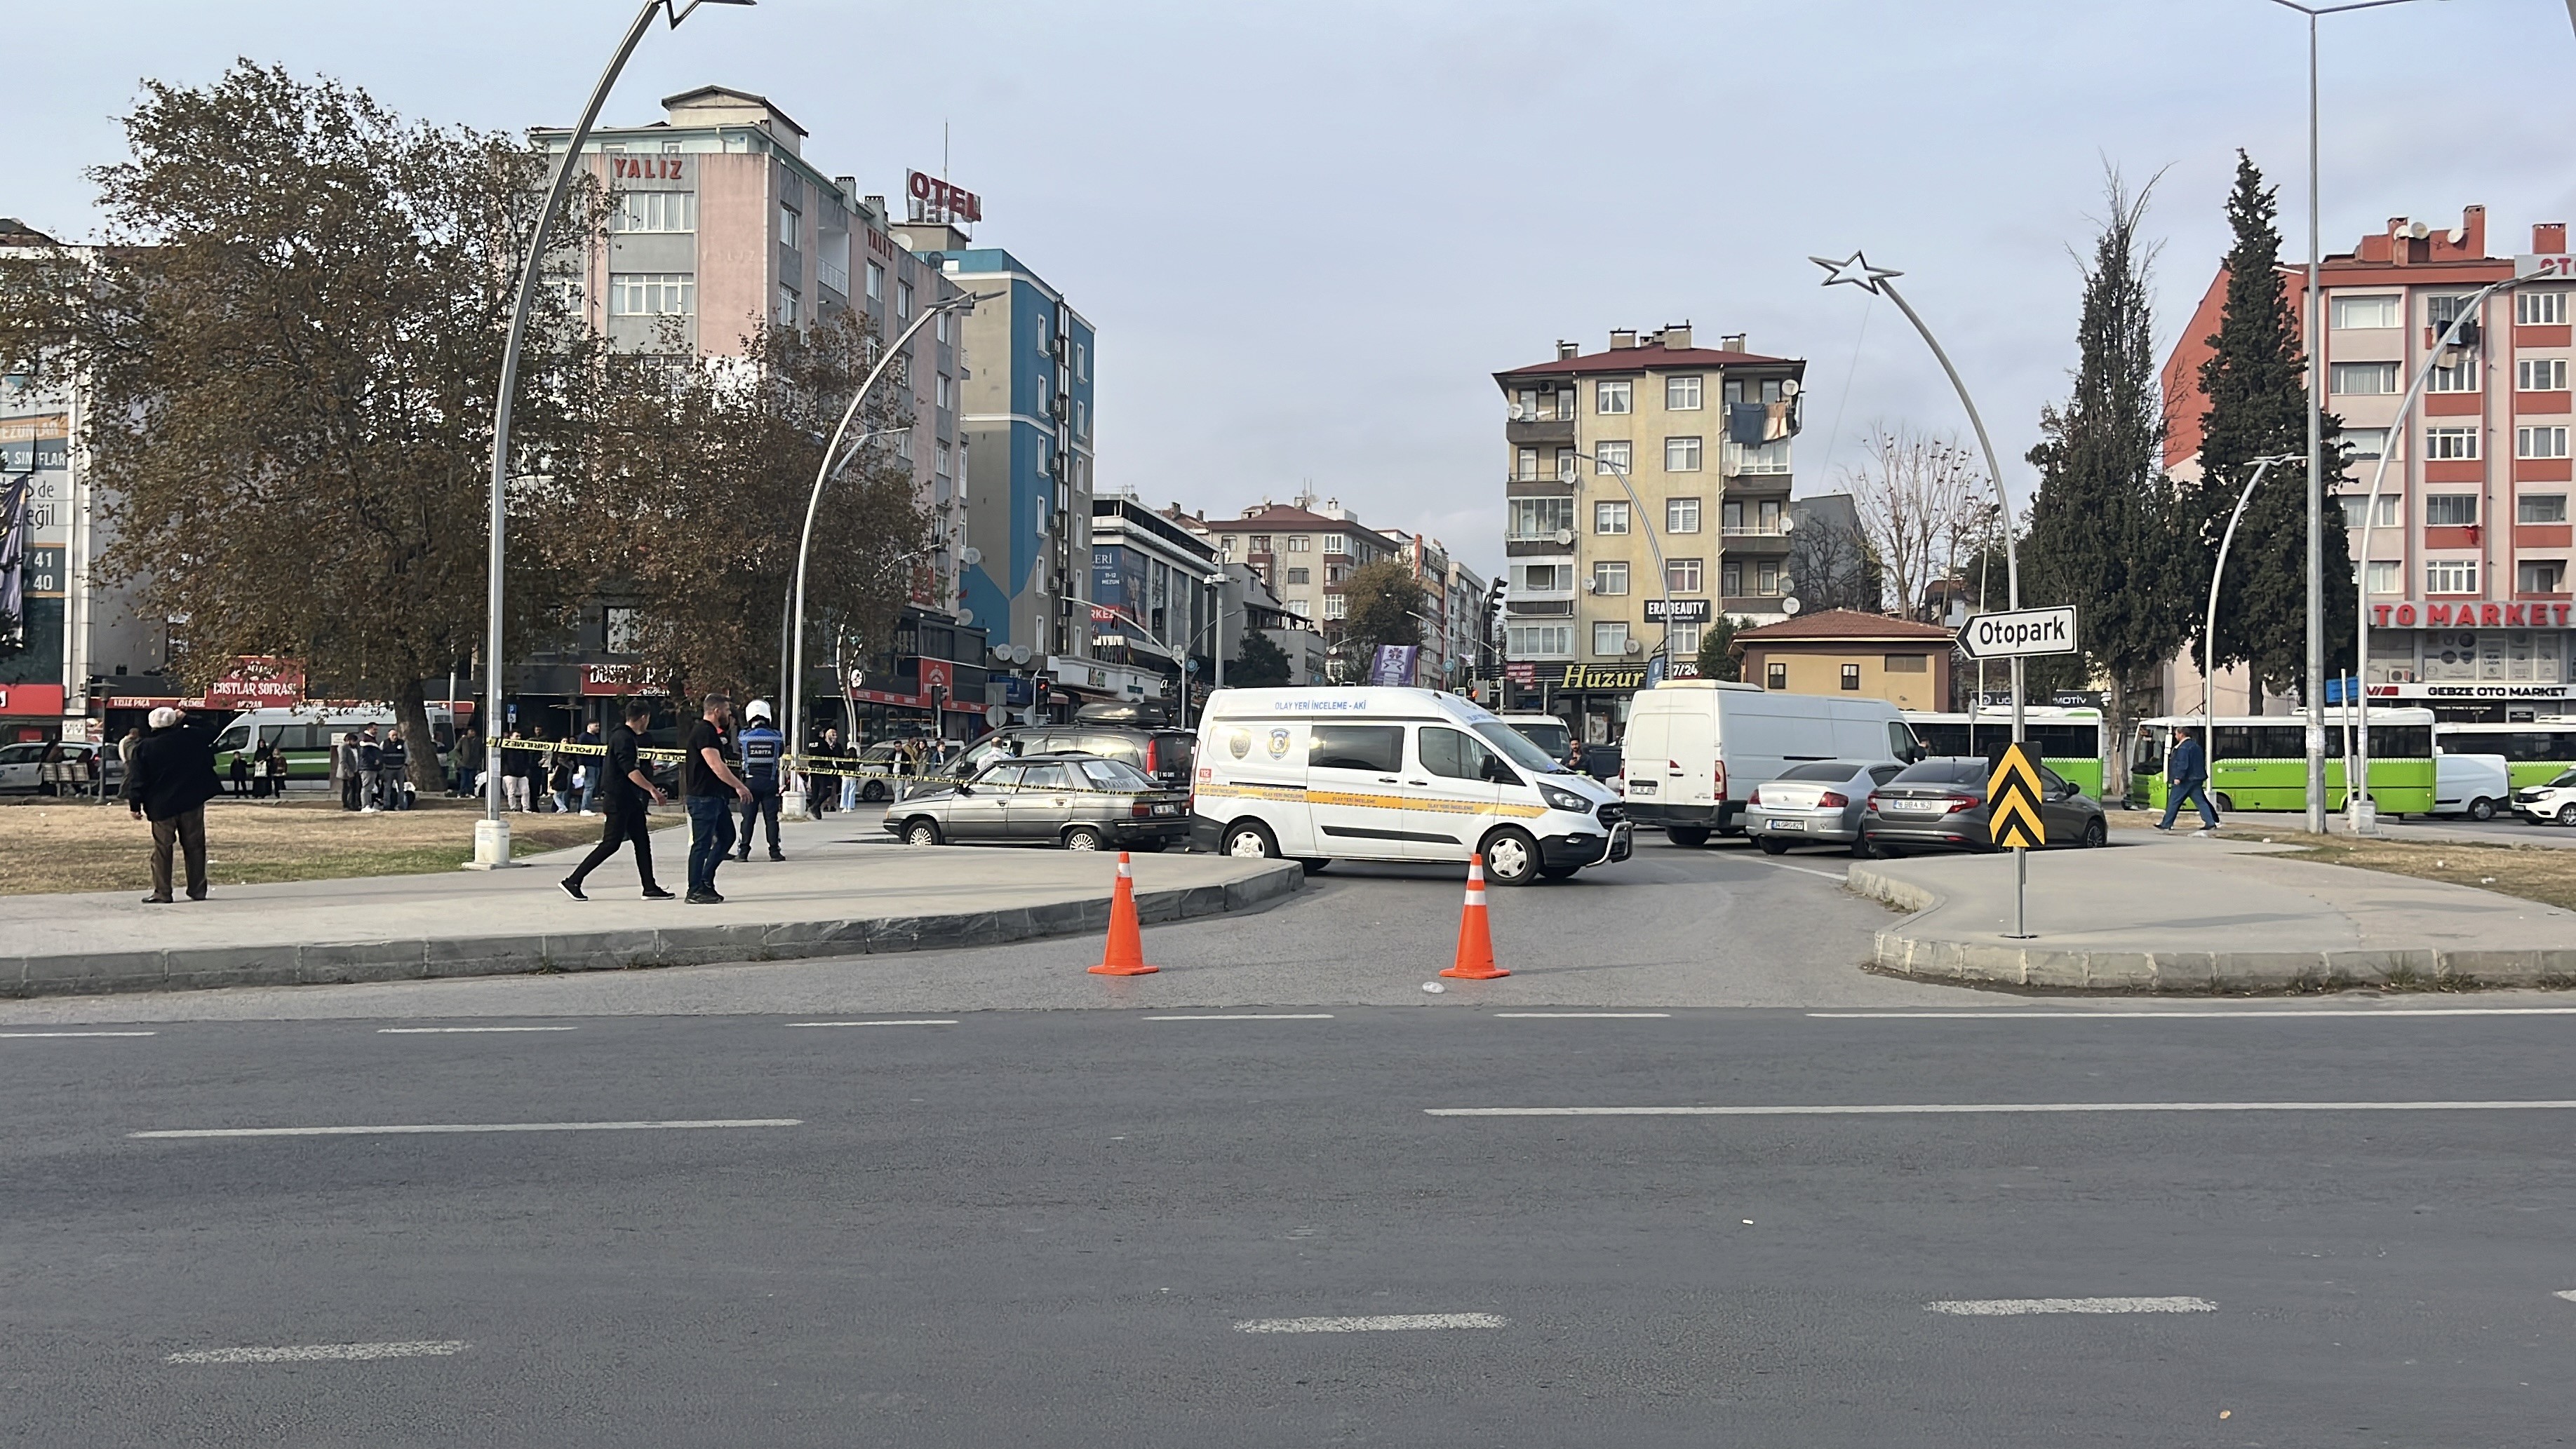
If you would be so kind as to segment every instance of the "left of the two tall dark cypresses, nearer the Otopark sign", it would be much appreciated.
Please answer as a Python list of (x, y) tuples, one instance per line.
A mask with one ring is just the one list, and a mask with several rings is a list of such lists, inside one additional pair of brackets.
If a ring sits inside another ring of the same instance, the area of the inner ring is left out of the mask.
[[(2138, 237), (2148, 190), (2128, 196), (2117, 172), (2107, 180), (2110, 214), (2084, 268), (2074, 396), (2040, 409), (2043, 440), (2030, 450), (2040, 489), (2022, 543), (2022, 602), (2076, 605), (2112, 739), (2128, 739), (2133, 703), (2190, 638), (2187, 553), (2200, 522), (2164, 479), (2154, 247)], [(2107, 788), (2125, 790), (2125, 777)]]

